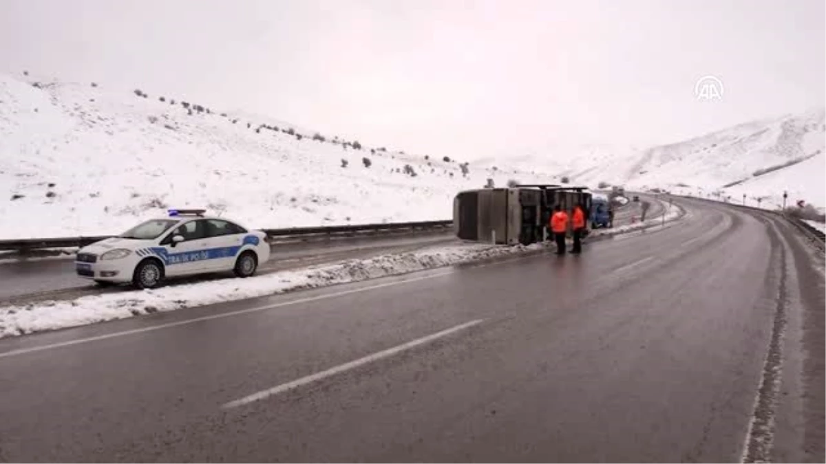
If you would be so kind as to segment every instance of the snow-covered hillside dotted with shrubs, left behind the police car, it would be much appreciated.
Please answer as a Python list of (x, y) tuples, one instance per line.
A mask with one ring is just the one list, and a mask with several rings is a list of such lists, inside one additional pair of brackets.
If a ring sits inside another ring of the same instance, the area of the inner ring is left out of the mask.
[(545, 180), (141, 95), (0, 74), (0, 239), (120, 233), (166, 207), (252, 227), (449, 219), (487, 178)]

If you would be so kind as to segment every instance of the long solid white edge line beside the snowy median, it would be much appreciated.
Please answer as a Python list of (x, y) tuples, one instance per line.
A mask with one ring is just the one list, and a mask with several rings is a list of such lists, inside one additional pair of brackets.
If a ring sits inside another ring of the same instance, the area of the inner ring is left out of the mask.
[(207, 316), (197, 317), (197, 318), (194, 318), (194, 319), (179, 320), (177, 322), (170, 322), (170, 323), (167, 323), (167, 324), (158, 324), (158, 325), (153, 325), (152, 327), (143, 327), (143, 328), (140, 328), (140, 329), (122, 330), (121, 332), (113, 332), (112, 334), (97, 335), (95, 337), (88, 337), (88, 338), (85, 338), (85, 339), (75, 339), (75, 340), (69, 340), (67, 342), (51, 343), (51, 344), (48, 344), (48, 345), (41, 345), (41, 346), (31, 347), (31, 348), (20, 348), (20, 349), (8, 351), (6, 353), (0, 353), (0, 358), (20, 356), (21, 354), (36, 353), (38, 351), (45, 351), (45, 350), (55, 349), (55, 348), (70, 347), (70, 346), (74, 346), (74, 345), (79, 345), (81, 343), (97, 342), (98, 340), (114, 339), (116, 337), (125, 337), (126, 335), (143, 334), (145, 332), (153, 332), (154, 330), (169, 329), (170, 327), (178, 327), (179, 325), (195, 324), (196, 322), (202, 322), (204, 320), (222, 319), (222, 318), (225, 318), (225, 317), (231, 317), (231, 316), (235, 316), (235, 315), (244, 315), (244, 314), (247, 314), (247, 313), (254, 313), (254, 312), (259, 312), (259, 311), (263, 311), (263, 310), (272, 310), (272, 309), (275, 309), (275, 308), (280, 308), (282, 306), (300, 305), (301, 303), (310, 303), (312, 301), (329, 300), (330, 298), (336, 298), (338, 296), (351, 295), (351, 294), (354, 294), (354, 293), (361, 293), (363, 291), (371, 291), (371, 290), (377, 290), (379, 288), (386, 288), (388, 286), (396, 286), (396, 285), (402, 285), (402, 284), (411, 283), (411, 282), (419, 282), (419, 281), (424, 281), (424, 280), (427, 280), (427, 279), (434, 279), (434, 278), (438, 278), (438, 277), (444, 277), (444, 276), (447, 276), (447, 275), (452, 274), (452, 273), (453, 272), (439, 272), (437, 274), (431, 274), (431, 275), (428, 275), (428, 276), (411, 277), (411, 278), (408, 278), (408, 279), (405, 279), (405, 280), (402, 280), (402, 281), (398, 281), (398, 282), (380, 283), (380, 284), (377, 284), (377, 285), (363, 286), (363, 287), (354, 288), (354, 289), (351, 289), (351, 290), (337, 291), (335, 293), (328, 293), (328, 294), (325, 294), (325, 295), (308, 296), (306, 298), (298, 298), (296, 300), (291, 300), (291, 301), (282, 301), (281, 303), (276, 303), (274, 305), (255, 306), (254, 308), (248, 308), (248, 309), (245, 309), (245, 310), (236, 310), (236, 311), (230, 311), (230, 312), (221, 313), (221, 314), (217, 314), (217, 315), (207, 315)]

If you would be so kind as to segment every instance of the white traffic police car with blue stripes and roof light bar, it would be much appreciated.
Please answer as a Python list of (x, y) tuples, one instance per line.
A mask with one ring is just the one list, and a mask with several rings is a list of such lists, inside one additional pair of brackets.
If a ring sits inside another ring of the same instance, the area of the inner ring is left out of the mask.
[(78, 251), (78, 276), (101, 284), (131, 282), (153, 288), (164, 277), (234, 271), (249, 277), (269, 259), (267, 234), (205, 210), (169, 210), (169, 216)]

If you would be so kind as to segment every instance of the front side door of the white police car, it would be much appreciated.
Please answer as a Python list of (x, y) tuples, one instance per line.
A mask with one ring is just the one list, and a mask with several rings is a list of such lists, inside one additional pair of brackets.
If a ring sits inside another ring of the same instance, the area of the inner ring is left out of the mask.
[[(206, 258), (203, 251), (208, 247), (206, 230), (204, 220), (189, 220), (164, 238), (161, 245), (165, 249), (162, 258), (166, 275), (182, 276), (202, 272)], [(182, 236), (183, 242), (173, 243), (175, 235)]]

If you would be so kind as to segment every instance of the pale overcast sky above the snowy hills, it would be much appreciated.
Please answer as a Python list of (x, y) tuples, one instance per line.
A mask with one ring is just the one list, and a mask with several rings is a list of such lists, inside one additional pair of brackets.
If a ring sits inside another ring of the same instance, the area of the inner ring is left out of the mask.
[[(468, 159), (826, 107), (824, 18), (824, 0), (0, 0), (0, 69)], [(705, 75), (721, 99), (695, 96)]]

